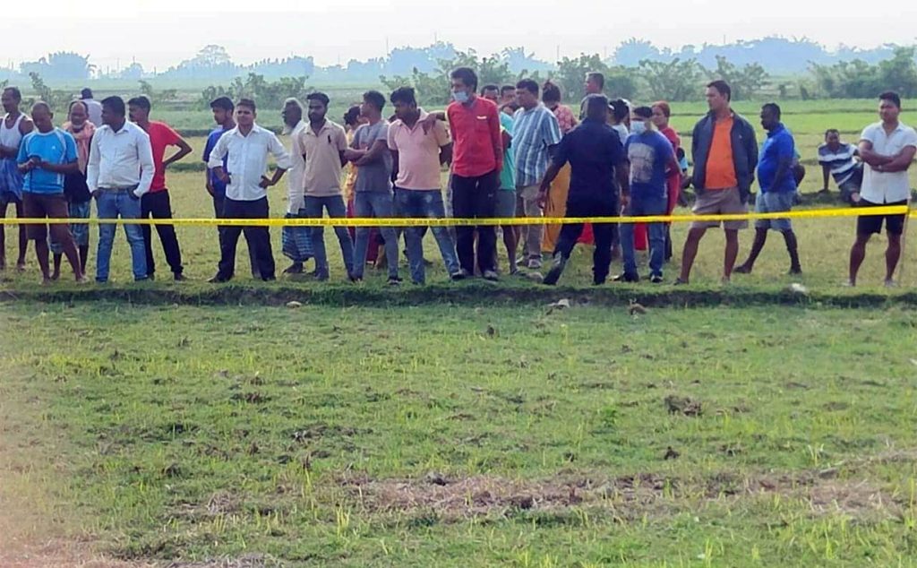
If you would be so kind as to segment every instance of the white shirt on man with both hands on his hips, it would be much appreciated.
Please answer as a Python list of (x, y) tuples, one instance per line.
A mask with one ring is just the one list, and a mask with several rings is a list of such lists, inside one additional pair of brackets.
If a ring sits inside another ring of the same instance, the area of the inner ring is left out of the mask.
[(233, 201), (256, 201), (268, 195), (268, 191), (259, 185), (261, 176), (268, 171), (268, 154), (277, 161), (278, 168), (290, 169), (290, 154), (281, 141), (271, 130), (257, 124), (251, 126), (248, 136), (244, 136), (238, 126), (226, 130), (210, 152), (207, 167), (222, 168), (226, 154), (226, 173), (229, 175), (226, 197)]

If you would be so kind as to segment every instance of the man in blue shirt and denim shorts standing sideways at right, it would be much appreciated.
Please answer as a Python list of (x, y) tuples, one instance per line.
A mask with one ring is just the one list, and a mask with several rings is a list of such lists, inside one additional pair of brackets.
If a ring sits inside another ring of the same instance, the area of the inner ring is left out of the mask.
[[(757, 184), (761, 193), (755, 199), (756, 213), (782, 213), (793, 208), (796, 197), (796, 178), (793, 176), (793, 162), (796, 160), (796, 142), (793, 135), (780, 122), (780, 107), (768, 103), (761, 107), (761, 126), (768, 131), (768, 139), (761, 148), (761, 160), (757, 163)], [(757, 255), (764, 249), (768, 229), (783, 234), (790, 253), (790, 274), (801, 274), (799, 245), (796, 233), (788, 218), (757, 219), (755, 221), (755, 242), (751, 245), (748, 260), (735, 268), (736, 273), (750, 274), (755, 267)]]

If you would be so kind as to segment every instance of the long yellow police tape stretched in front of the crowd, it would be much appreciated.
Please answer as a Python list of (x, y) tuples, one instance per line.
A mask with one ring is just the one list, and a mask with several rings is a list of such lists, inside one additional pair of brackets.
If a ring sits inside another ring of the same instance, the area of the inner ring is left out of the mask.
[(44, 225), (72, 223), (88, 225), (176, 225), (182, 227), (248, 226), (248, 227), (458, 227), (498, 225), (569, 225), (578, 223), (687, 223), (713, 221), (746, 221), (755, 219), (806, 219), (824, 217), (872, 217), (908, 215), (917, 217), (917, 209), (908, 206), (844, 207), (809, 209), (780, 213), (741, 213), (733, 215), (655, 215), (648, 217), (491, 217), (491, 218), (267, 218), (267, 219), (100, 219), (100, 218), (0, 218), (3, 225)]

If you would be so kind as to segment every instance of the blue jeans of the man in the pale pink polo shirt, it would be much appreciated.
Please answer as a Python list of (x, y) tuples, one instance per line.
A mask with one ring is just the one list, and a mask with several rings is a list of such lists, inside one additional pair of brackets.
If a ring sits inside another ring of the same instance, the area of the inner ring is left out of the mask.
[[(431, 219), (446, 217), (443, 195), (438, 189), (429, 191), (398, 189), (395, 195), (398, 199), (398, 208), (404, 217)], [(431, 227), (430, 229), (436, 238), (436, 244), (439, 245), (439, 253), (443, 255), (446, 271), (450, 275), (458, 273), (456, 245), (448, 228)], [(424, 227), (408, 227), (404, 230), (404, 239), (407, 241), (407, 260), (411, 266), (411, 280), (415, 284), (424, 284)]]

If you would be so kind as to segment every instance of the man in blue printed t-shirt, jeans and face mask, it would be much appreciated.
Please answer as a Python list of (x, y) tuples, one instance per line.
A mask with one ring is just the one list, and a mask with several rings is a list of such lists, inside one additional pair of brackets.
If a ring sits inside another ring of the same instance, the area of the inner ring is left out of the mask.
[[(624, 209), (627, 217), (665, 215), (668, 210), (669, 175), (677, 175), (679, 163), (668, 139), (653, 124), (653, 109), (638, 106), (631, 116), (631, 134), (624, 143), (624, 153), (630, 162), (630, 202)], [(666, 252), (665, 223), (648, 223), (649, 281), (662, 283), (662, 263)], [(639, 282), (634, 254), (634, 224), (621, 226), (621, 254), (624, 273), (615, 282)]]

